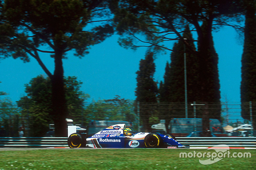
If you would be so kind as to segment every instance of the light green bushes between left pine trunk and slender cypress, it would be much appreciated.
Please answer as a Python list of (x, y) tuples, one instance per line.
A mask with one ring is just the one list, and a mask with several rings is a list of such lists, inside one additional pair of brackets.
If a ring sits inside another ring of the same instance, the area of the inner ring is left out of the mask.
[(90, 120), (109, 120), (134, 122), (133, 103), (116, 95), (114, 99), (92, 101), (86, 108)]

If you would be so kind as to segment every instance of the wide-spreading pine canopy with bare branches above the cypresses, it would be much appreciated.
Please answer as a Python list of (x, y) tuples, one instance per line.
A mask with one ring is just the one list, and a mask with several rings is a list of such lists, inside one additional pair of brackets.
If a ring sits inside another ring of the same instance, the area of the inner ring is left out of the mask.
[[(118, 33), (123, 35), (120, 44), (124, 48), (155, 46), (156, 50), (171, 50), (164, 46), (165, 42), (182, 39), (181, 33), (187, 24), (195, 27), (201, 39), (200, 26), (204, 21), (209, 21), (211, 27), (214, 25), (212, 28), (217, 30), (220, 25), (229, 25), (226, 22), (231, 18), (242, 21), (239, 14), (244, 11), (241, 0), (122, 0), (119, 6), (119, 10), (115, 11), (114, 22)], [(233, 27), (241, 29), (239, 26)], [(209, 27), (209, 31), (212, 28)], [(147, 41), (139, 39), (139, 33), (143, 33)], [(136, 43), (138, 40), (142, 44)]]

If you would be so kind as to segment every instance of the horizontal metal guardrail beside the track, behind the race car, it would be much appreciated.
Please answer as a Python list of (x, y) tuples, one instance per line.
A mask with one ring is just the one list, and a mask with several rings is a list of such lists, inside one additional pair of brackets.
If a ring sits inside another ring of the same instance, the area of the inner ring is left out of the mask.
[[(176, 137), (183, 145), (229, 147), (256, 147), (256, 137)], [(0, 148), (68, 147), (67, 137), (0, 137)]]

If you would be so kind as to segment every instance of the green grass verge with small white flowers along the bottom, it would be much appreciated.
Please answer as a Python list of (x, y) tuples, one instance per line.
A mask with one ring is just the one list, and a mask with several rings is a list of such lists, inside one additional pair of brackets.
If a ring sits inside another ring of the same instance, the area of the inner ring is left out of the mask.
[[(8, 169), (255, 169), (256, 150), (231, 149), (233, 153), (250, 152), (251, 158), (223, 158), (211, 165), (199, 159), (180, 158), (180, 152), (194, 154), (206, 149), (38, 149), (0, 151), (0, 170)], [(196, 155), (196, 154), (195, 154)], [(237, 154), (236, 154), (237, 155)], [(241, 155), (241, 154), (240, 154)], [(190, 154), (191, 156), (191, 154)], [(199, 155), (200, 156), (200, 155)]]

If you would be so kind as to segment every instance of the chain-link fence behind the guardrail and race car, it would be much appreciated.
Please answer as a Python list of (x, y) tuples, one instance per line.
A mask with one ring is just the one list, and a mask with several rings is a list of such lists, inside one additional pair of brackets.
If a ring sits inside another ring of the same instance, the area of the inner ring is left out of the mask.
[[(111, 121), (126, 121), (135, 132), (187, 136), (191, 132), (208, 130), (215, 136), (255, 136), (255, 102), (188, 102), (188, 109), (185, 109), (184, 102), (138, 102), (100, 107), (89, 104), (83, 105), (83, 108), (82, 113), (70, 114), (67, 118), (71, 122), (67, 123), (85, 127), (92, 120), (106, 121), (106, 126)], [(0, 137), (54, 136), (54, 123), (49, 114), (24, 113), (17, 106), (12, 106), (10, 110), (1, 110)]]

